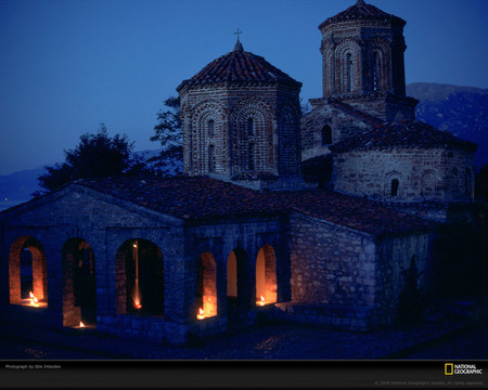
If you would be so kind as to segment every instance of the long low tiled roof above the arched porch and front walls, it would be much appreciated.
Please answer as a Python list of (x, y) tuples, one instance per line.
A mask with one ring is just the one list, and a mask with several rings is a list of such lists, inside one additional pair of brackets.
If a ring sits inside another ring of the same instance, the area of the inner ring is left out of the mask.
[(262, 193), (215, 179), (93, 179), (76, 184), (185, 220), (299, 212), (373, 235), (432, 229), (433, 222), (323, 190)]

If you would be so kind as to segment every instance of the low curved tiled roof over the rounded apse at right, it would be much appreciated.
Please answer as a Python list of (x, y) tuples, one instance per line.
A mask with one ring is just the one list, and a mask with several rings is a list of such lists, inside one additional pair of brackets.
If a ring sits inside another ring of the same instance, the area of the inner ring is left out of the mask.
[(459, 146), (476, 151), (477, 145), (441, 131), (435, 127), (415, 121), (400, 120), (375, 127), (369, 131), (358, 133), (330, 146), (335, 153), (348, 151), (368, 151), (390, 146), (429, 148), (434, 146)]

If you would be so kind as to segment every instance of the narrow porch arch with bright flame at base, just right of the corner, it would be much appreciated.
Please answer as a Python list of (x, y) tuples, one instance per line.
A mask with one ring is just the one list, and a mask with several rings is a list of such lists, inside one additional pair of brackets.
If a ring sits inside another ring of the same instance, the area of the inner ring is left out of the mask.
[[(198, 318), (217, 315), (217, 265), (210, 252), (198, 259), (197, 292)], [(202, 312), (200, 312), (202, 309)]]

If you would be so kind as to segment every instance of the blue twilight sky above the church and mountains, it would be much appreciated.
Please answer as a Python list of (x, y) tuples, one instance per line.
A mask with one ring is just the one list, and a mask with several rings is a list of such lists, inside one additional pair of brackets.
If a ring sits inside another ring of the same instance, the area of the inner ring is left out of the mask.
[[(318, 25), (356, 0), (0, 0), (0, 174), (105, 122), (136, 150), (163, 101), (235, 43), (321, 96)], [(367, 0), (407, 21), (407, 82), (488, 87), (487, 0)]]

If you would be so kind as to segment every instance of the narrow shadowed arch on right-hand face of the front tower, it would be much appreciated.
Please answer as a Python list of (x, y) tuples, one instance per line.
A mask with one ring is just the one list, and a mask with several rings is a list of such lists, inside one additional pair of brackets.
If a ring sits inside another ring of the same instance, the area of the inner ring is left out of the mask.
[(300, 162), (298, 115), (292, 104), (283, 104), (278, 119), (280, 174), (297, 174)]

